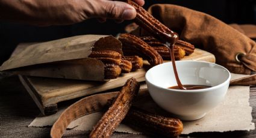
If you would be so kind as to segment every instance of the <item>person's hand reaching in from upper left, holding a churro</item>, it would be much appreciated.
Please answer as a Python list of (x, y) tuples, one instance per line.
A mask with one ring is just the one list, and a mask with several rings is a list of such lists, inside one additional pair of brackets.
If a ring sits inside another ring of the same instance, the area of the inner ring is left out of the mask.
[[(134, 0), (139, 5), (144, 0)], [(117, 22), (136, 17), (129, 4), (109, 0), (0, 0), (0, 19), (39, 26), (70, 25), (90, 18)]]

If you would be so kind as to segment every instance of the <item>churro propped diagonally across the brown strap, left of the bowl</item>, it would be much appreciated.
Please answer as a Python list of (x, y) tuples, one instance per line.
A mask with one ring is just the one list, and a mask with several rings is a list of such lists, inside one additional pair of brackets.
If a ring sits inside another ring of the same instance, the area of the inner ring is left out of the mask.
[(89, 137), (110, 137), (114, 129), (125, 118), (131, 103), (139, 92), (139, 88), (140, 83), (136, 79), (128, 79), (117, 95), (116, 100), (93, 127)]

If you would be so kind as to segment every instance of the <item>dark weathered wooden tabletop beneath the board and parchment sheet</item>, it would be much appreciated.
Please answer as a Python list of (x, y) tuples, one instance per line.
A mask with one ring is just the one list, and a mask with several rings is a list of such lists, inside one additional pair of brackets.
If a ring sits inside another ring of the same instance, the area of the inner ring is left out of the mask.
[[(70, 101), (73, 102), (73, 101)], [(253, 122), (256, 122), (256, 87), (251, 86), (250, 105)], [(63, 103), (66, 104), (66, 103)], [(39, 115), (40, 110), (23, 88), (17, 76), (0, 74), (0, 137), (49, 137), (51, 127), (27, 127)], [(66, 131), (64, 137), (87, 137), (88, 132)], [(193, 133), (180, 137), (256, 137), (256, 130), (226, 133)], [(159, 137), (114, 133), (112, 137)]]

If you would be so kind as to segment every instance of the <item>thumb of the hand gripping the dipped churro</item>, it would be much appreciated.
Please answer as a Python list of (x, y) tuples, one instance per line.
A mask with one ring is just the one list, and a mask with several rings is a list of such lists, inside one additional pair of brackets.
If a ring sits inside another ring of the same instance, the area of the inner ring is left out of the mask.
[(103, 1), (98, 16), (108, 19), (131, 20), (136, 17), (136, 10), (125, 2)]

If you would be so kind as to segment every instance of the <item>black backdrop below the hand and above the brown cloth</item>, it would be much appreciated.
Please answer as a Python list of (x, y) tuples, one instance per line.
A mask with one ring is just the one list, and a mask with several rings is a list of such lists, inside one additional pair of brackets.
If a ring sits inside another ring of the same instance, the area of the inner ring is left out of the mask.
[[(147, 9), (150, 5), (157, 3), (176, 4), (192, 8), (210, 14), (225, 23), (256, 24), (255, 0), (145, 0), (144, 8)], [(98, 23), (95, 19), (89, 19), (75, 25), (40, 28), (0, 20), (0, 65), (8, 59), (18, 43), (48, 41), (83, 34), (116, 35), (119, 32), (124, 32), (124, 26), (129, 23), (131, 21), (117, 24), (113, 20)]]

